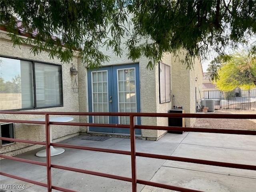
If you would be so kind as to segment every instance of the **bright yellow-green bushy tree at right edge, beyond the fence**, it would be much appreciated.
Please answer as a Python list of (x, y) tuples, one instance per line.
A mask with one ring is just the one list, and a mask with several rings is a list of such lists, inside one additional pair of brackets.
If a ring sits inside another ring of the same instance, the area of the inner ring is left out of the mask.
[(232, 55), (218, 70), (218, 75), (216, 85), (220, 90), (252, 89), (256, 86), (256, 56), (245, 53)]

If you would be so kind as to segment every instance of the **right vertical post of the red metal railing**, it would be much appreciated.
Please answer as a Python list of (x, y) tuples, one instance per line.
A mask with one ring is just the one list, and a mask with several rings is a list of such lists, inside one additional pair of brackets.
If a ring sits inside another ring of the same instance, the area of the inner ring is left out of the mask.
[(131, 162), (132, 162), (132, 192), (137, 192), (136, 176), (136, 148), (135, 148), (135, 129), (134, 116), (130, 115), (130, 136), (131, 136)]

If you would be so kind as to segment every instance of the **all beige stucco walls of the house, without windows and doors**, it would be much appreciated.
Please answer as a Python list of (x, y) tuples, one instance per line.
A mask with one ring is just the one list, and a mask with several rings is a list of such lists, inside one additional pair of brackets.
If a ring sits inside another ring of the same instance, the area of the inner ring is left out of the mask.
[[(124, 39), (125, 40), (125, 39)], [(34, 55), (30, 52), (31, 46), (21, 45), (21, 48), (13, 47), (10, 38), (5, 31), (0, 31), (0, 55), (6, 57), (20, 58), (34, 60), (38, 62), (48, 62), (52, 64), (62, 65), (62, 83), (63, 83), (63, 107), (44, 108), (30, 111), (53, 111), (53, 112), (88, 112), (88, 69), (86, 64), (82, 63), (78, 56), (74, 56), (72, 62), (61, 63), (57, 58), (50, 59), (48, 52), (41, 52), (38, 55)], [(114, 66), (123, 64), (139, 63), (140, 69), (140, 112), (152, 112), (152, 113), (166, 113), (168, 110), (173, 109), (174, 101), (171, 98), (171, 102), (160, 104), (159, 94), (159, 66), (157, 65), (154, 70), (147, 70), (146, 66), (149, 60), (145, 57), (133, 62), (127, 57), (127, 50), (124, 49), (122, 57), (115, 56), (111, 51), (107, 51), (105, 48), (102, 52), (110, 56), (110, 61), (102, 63), (102, 66)], [(200, 59), (194, 60), (194, 65), (191, 70), (188, 70), (187, 65), (182, 64), (182, 60), (185, 59), (183, 52), (179, 54), (179, 59), (172, 53), (166, 53), (162, 57), (161, 62), (170, 66), (171, 74), (171, 90), (175, 96), (176, 106), (183, 106), (186, 113), (194, 113), (196, 111), (196, 98), (199, 98), (199, 91), (197, 96), (195, 94), (195, 88), (202, 84), (202, 66)], [(70, 67), (74, 65), (78, 69), (78, 75), (73, 76), (70, 73)], [(195, 82), (195, 78), (198, 78)], [(74, 93), (72, 86), (74, 80), (77, 80), (79, 91)], [(0, 114), (1, 115), (1, 114)], [(40, 116), (33, 115), (4, 115), (4, 118), (10, 119), (23, 119), (29, 120), (32, 118), (39, 118)], [(73, 122), (88, 122), (88, 116), (73, 116)], [(142, 117), (142, 125), (155, 125), (155, 126), (168, 126), (168, 118), (149, 118)], [(186, 126), (192, 126), (194, 119), (186, 119)], [(45, 140), (45, 132), (42, 126), (27, 126), (24, 124), (16, 124), (16, 138), (28, 139), (28, 140)], [(27, 133), (30, 134), (27, 134)], [(166, 134), (164, 130), (142, 130), (142, 138), (147, 140), (157, 140)], [(52, 138), (54, 142), (70, 138), (78, 134), (87, 134), (88, 127), (78, 126), (53, 126)], [(30, 146), (30, 147), (28, 147)], [(8, 146), (4, 146), (0, 149), (0, 153), (6, 153), (10, 155), (20, 154), (40, 146), (16, 143)]]

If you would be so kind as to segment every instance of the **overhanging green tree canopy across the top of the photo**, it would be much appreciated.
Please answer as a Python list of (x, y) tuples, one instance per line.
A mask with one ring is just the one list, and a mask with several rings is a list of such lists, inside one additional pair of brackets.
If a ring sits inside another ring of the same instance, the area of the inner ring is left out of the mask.
[[(128, 14), (133, 15), (130, 28)], [(246, 42), (256, 33), (256, 1), (250, 0), (2, 0), (0, 22), (14, 44), (16, 22), (28, 32), (38, 33), (32, 52), (50, 50), (51, 57), (70, 61), (74, 49), (89, 67), (108, 60), (100, 51), (105, 45), (122, 56), (126, 44), (128, 56), (136, 60), (150, 59), (152, 68), (164, 52), (187, 50), (190, 58), (206, 55), (212, 47), (222, 52), (226, 46)], [(53, 39), (52, 36), (57, 36)], [(124, 36), (129, 36), (126, 42)], [(141, 43), (141, 39), (146, 39)], [(44, 41), (44, 42), (42, 42)], [(63, 48), (65, 47), (65, 49)]]

